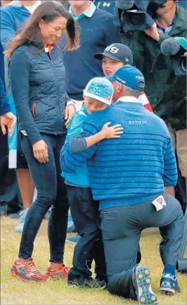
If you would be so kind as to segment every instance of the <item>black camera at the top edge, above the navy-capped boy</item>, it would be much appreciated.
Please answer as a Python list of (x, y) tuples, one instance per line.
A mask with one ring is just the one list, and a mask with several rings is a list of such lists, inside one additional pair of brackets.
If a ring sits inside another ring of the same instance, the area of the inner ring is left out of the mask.
[(116, 0), (115, 25), (124, 32), (143, 31), (155, 23), (157, 8), (166, 0)]

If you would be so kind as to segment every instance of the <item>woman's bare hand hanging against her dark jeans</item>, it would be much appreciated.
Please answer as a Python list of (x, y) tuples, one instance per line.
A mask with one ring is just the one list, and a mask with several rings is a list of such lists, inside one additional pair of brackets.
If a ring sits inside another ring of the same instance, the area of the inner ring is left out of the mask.
[(39, 163), (46, 163), (49, 162), (49, 155), (48, 155), (48, 147), (46, 142), (42, 139), (33, 144), (32, 146), (34, 158), (39, 161)]

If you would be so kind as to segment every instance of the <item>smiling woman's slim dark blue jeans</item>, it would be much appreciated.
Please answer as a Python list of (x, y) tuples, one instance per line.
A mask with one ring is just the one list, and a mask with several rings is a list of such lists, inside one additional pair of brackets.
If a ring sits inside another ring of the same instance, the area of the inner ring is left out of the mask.
[(41, 137), (48, 146), (48, 163), (39, 163), (34, 158), (28, 137), (21, 135), (22, 150), (27, 158), (30, 173), (37, 189), (37, 199), (27, 212), (18, 256), (21, 259), (32, 257), (34, 239), (41, 221), (52, 206), (48, 225), (50, 261), (63, 263), (69, 208), (65, 183), (60, 175), (60, 149), (65, 142), (65, 135), (41, 134)]

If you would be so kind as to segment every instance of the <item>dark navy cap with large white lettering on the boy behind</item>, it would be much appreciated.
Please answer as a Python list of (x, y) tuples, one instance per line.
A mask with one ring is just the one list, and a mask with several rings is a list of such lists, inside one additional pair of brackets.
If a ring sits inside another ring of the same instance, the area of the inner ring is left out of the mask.
[(103, 56), (114, 59), (115, 61), (122, 61), (122, 63), (129, 65), (132, 65), (133, 62), (131, 49), (124, 44), (110, 44), (103, 53), (96, 53), (93, 57), (96, 59), (103, 59)]

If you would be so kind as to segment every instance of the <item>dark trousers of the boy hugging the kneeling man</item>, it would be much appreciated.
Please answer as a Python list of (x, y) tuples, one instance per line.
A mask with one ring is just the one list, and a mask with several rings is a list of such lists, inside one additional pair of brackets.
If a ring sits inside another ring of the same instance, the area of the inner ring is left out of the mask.
[(97, 225), (98, 201), (93, 200), (89, 187), (67, 185), (67, 197), (75, 228), (82, 237), (75, 246), (68, 280), (91, 277), (93, 259), (96, 264), (96, 278), (106, 280), (103, 242), (101, 230)]

